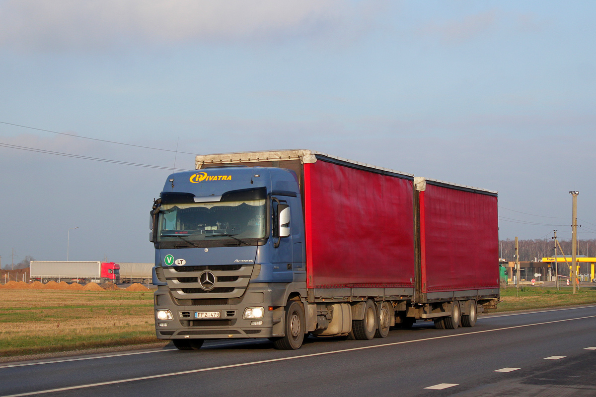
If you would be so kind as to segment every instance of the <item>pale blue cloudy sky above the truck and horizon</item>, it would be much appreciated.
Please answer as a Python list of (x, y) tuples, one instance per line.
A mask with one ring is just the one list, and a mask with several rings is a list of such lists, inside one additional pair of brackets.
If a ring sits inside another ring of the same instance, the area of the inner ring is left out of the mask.
[[(305, 148), (596, 238), (596, 2), (0, 0), (2, 265), (152, 262), (195, 154)], [(77, 229), (74, 229), (77, 227)]]

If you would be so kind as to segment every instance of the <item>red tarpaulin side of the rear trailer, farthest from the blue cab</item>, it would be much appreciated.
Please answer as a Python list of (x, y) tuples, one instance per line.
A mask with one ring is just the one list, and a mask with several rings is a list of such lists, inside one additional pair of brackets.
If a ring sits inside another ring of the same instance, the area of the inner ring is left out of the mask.
[(498, 289), (496, 193), (426, 180), (419, 198), (422, 292)]

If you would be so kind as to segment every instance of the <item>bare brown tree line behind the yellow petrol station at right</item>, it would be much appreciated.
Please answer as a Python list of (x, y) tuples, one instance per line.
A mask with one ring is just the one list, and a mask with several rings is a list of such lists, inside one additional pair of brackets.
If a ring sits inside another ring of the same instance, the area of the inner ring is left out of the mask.
[[(558, 240), (563, 248), (563, 252), (568, 257), (571, 256), (571, 240)], [(520, 261), (541, 260), (545, 257), (554, 257), (555, 240), (518, 240)], [(515, 261), (516, 241), (507, 239), (499, 240), (499, 258), (505, 261)], [(557, 255), (562, 256), (561, 249), (557, 246)], [(578, 256), (596, 257), (596, 239), (578, 240)]]

